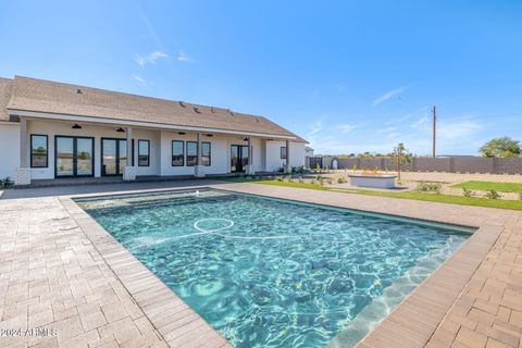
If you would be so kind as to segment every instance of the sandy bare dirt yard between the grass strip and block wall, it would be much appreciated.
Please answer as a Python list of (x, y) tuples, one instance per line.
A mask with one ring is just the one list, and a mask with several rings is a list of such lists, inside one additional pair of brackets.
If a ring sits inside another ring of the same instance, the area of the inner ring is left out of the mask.
[[(337, 186), (338, 178), (346, 178), (349, 183), (348, 174), (361, 174), (363, 171), (353, 170), (336, 170), (330, 171), (325, 174), (316, 174), (322, 177), (333, 178)], [(380, 171), (380, 174), (397, 175), (395, 171)], [(313, 176), (313, 174), (312, 174)], [(522, 175), (499, 175), (499, 174), (460, 174), (460, 173), (423, 173), (423, 172), (401, 172), (401, 181), (398, 186), (414, 190), (420, 183), (437, 183), (440, 184), (440, 192), (443, 195), (462, 196), (462, 188), (451, 187), (451, 185), (464, 183), (469, 181), (495, 182), (495, 183), (519, 183), (522, 184)], [(326, 184), (327, 185), (327, 184)], [(343, 184), (344, 187), (350, 187), (349, 184)], [(353, 187), (356, 188), (356, 187)], [(357, 187), (358, 189), (360, 187)], [(474, 197), (485, 197), (486, 191), (472, 190)], [(498, 192), (501, 199), (520, 199), (520, 196), (514, 192)]]

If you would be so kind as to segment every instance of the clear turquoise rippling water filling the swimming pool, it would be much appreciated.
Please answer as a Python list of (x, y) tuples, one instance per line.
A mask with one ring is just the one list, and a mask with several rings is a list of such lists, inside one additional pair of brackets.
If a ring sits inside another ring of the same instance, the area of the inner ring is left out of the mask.
[(77, 202), (236, 347), (353, 346), (470, 235), (220, 190)]

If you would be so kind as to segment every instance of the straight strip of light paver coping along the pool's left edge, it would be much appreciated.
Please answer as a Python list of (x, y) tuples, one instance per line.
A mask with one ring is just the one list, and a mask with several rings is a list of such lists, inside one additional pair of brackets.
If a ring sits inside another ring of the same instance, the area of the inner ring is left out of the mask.
[(79, 197), (59, 199), (170, 347), (233, 347), (84, 211), (74, 198)]

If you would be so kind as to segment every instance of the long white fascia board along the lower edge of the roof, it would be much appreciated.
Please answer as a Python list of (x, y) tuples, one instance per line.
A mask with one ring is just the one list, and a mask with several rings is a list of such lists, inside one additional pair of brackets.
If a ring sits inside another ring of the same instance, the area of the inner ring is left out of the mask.
[(240, 135), (240, 136), (258, 136), (258, 137), (289, 139), (289, 140), (296, 139), (296, 137), (290, 137), (290, 136), (254, 133), (254, 132), (227, 130), (227, 129), (219, 129), (219, 128), (191, 127), (191, 126), (182, 126), (182, 125), (178, 126), (178, 125), (170, 125), (170, 124), (156, 123), (156, 122), (140, 122), (140, 121), (125, 121), (125, 120), (116, 120), (116, 119), (108, 119), (108, 117), (78, 116), (78, 115), (27, 111), (27, 110), (18, 110), (18, 109), (8, 109), (8, 112), (10, 115), (16, 115), (22, 117), (25, 116), (25, 117), (34, 117), (34, 119), (114, 124), (114, 125), (125, 125), (125, 126), (159, 128), (159, 129), (209, 132), (209, 133), (233, 134), (233, 135)]

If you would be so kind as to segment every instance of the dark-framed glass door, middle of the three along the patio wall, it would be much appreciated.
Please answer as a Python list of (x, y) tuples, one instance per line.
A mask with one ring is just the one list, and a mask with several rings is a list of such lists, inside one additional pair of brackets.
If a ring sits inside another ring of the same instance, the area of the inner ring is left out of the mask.
[(101, 175), (122, 175), (127, 165), (127, 140), (101, 139)]

